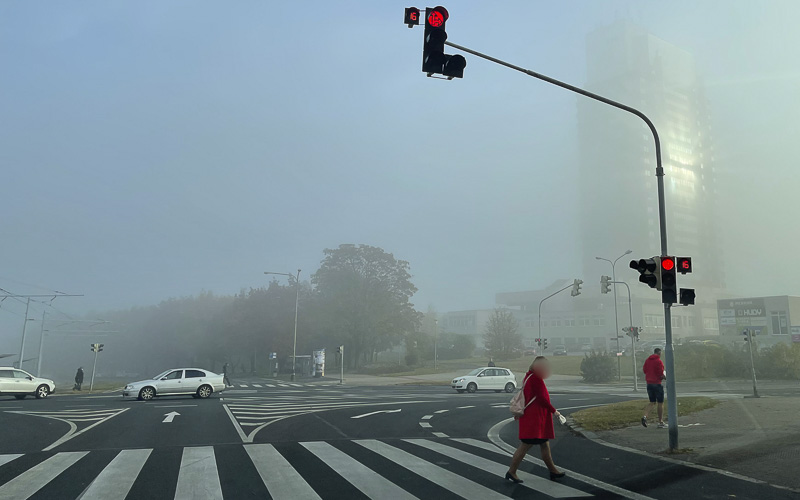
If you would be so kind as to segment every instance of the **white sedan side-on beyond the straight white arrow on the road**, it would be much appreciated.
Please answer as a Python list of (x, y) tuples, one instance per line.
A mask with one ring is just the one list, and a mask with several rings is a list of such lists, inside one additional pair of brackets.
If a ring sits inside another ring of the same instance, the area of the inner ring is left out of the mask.
[(186, 395), (205, 399), (225, 390), (222, 375), (201, 368), (173, 368), (149, 380), (132, 382), (122, 390), (123, 398), (150, 401), (156, 396)]

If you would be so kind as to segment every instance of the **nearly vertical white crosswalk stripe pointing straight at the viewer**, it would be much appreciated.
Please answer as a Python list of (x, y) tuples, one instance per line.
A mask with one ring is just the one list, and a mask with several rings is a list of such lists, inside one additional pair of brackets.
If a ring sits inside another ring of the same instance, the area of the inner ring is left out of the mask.
[(222, 500), (213, 446), (183, 449), (175, 500)]

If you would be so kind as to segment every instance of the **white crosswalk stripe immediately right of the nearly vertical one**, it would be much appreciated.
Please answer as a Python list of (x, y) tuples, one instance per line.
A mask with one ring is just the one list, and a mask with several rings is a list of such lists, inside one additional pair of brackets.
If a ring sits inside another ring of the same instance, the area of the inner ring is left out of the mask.
[(319, 500), (303, 476), (271, 444), (248, 444), (244, 449), (272, 498)]

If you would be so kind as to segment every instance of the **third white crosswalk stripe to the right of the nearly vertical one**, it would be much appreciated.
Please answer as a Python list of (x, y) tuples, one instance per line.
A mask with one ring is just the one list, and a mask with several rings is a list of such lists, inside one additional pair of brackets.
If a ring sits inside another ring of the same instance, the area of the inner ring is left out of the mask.
[(374, 439), (357, 440), (354, 441), (354, 443), (370, 451), (374, 451), (378, 455), (410, 470), (414, 474), (422, 476), (428, 481), (432, 481), (445, 490), (452, 491), (456, 495), (460, 495), (467, 500), (508, 499), (505, 495), (470, 481), (463, 476), (454, 474), (438, 465), (420, 460), (417, 456), (386, 443)]

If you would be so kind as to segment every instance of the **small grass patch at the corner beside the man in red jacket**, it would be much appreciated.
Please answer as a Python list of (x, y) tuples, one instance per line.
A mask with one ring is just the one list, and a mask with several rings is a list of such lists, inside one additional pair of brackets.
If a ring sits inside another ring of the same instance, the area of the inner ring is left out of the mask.
[[(585, 410), (573, 413), (572, 419), (575, 421), (575, 424), (583, 427), (587, 431), (622, 429), (623, 427), (638, 424), (641, 421), (647, 403), (648, 401), (646, 399), (635, 399), (633, 401), (612, 403), (595, 408), (586, 408)], [(698, 411), (707, 410), (717, 406), (719, 403), (719, 400), (705, 396), (678, 398), (678, 416), (682, 417)], [(666, 413), (666, 409), (664, 412)]]

